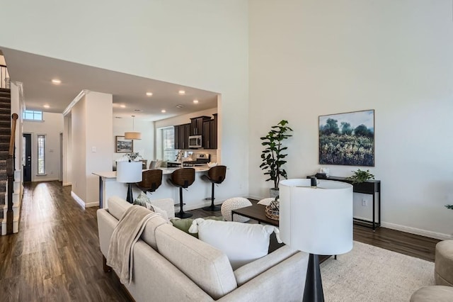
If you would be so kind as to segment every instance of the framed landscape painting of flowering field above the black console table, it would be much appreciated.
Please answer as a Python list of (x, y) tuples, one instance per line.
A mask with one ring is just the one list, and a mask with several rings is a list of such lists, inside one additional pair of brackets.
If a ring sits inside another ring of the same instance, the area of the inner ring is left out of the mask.
[(319, 116), (319, 164), (374, 167), (374, 110)]

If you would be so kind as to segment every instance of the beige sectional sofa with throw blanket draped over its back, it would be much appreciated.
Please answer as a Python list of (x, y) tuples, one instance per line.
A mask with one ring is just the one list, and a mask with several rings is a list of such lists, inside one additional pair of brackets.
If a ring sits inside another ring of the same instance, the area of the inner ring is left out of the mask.
[[(173, 200), (154, 204), (173, 215)], [(108, 206), (98, 210), (104, 257), (115, 225), (131, 205), (110, 197)], [(125, 287), (135, 301), (302, 301), (308, 254), (287, 246), (233, 271), (223, 252), (156, 216), (133, 254), (133, 280)]]

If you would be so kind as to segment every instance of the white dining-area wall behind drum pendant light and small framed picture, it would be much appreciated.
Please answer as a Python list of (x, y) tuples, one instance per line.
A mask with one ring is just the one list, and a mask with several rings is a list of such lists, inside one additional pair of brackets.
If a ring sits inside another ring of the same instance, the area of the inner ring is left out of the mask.
[[(113, 118), (113, 142), (111, 149), (113, 161), (126, 154), (115, 152), (115, 136), (124, 136), (127, 131), (132, 131), (132, 117)], [(141, 140), (134, 140), (134, 152), (139, 152), (143, 159), (148, 160), (149, 163), (154, 159), (154, 123), (136, 117), (134, 121), (134, 131), (142, 133)]]

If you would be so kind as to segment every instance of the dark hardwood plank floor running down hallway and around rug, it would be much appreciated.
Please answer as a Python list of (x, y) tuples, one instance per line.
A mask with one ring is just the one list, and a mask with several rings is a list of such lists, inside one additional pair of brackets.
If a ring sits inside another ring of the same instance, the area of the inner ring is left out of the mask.
[[(98, 208), (81, 208), (70, 190), (58, 181), (25, 184), (19, 233), (0, 236), (0, 301), (130, 301), (115, 274), (103, 272)], [(429, 261), (439, 241), (360, 226), (354, 240)]]

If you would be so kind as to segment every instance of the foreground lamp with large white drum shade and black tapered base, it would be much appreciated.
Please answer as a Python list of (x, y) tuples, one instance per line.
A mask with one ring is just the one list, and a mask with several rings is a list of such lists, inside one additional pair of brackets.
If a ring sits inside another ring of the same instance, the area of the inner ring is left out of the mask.
[(310, 179), (280, 181), (280, 238), (286, 245), (308, 252), (305, 302), (324, 301), (319, 255), (352, 250), (352, 185)]

